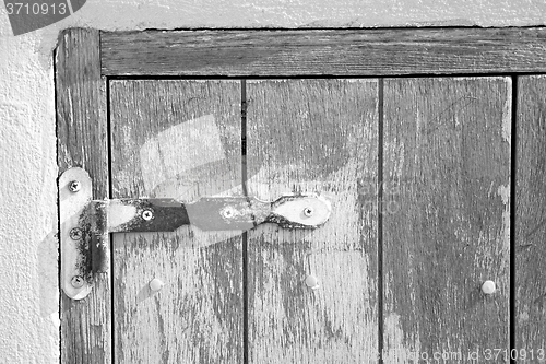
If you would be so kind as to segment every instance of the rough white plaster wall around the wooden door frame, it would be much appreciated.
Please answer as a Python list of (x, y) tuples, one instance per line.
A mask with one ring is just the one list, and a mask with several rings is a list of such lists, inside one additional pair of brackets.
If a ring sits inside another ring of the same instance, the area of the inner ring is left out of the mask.
[(59, 357), (51, 50), (61, 28), (546, 23), (544, 0), (87, 0), (74, 15), (15, 37), (0, 9), (1, 363)]

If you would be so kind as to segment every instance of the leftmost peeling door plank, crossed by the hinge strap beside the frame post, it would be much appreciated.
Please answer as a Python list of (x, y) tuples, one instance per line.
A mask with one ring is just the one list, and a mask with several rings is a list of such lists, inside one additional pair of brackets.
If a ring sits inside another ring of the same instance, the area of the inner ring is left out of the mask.
[[(234, 81), (111, 81), (114, 197), (240, 196), (240, 105)], [(114, 248), (118, 363), (242, 362), (240, 232), (116, 234)]]

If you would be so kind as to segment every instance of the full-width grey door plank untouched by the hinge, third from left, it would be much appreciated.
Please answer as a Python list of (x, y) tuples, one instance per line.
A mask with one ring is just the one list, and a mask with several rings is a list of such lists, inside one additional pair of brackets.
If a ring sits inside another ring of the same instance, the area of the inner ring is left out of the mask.
[(384, 81), (385, 363), (508, 350), (510, 130), (508, 78)]

